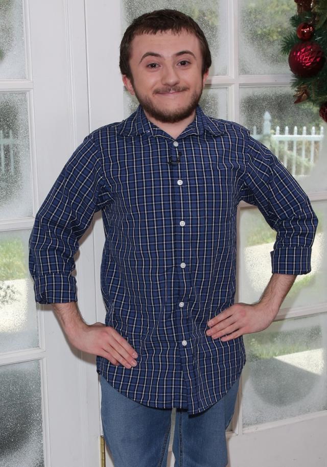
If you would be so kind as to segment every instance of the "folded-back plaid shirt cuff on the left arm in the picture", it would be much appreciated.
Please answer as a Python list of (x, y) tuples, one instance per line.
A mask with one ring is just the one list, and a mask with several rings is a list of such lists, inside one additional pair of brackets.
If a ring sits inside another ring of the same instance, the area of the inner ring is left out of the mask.
[(34, 277), (35, 301), (38, 303), (66, 303), (77, 301), (76, 278), (72, 275), (46, 274)]

